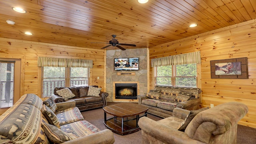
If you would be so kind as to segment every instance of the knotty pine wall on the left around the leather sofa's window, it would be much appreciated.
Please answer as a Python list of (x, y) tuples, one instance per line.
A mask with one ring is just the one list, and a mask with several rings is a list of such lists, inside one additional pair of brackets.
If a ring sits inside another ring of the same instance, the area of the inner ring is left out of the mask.
[(0, 58), (18, 58), (22, 61), (20, 96), (27, 93), (40, 94), (38, 56), (93, 60), (90, 85), (98, 85), (102, 91), (106, 90), (106, 50), (0, 38)]

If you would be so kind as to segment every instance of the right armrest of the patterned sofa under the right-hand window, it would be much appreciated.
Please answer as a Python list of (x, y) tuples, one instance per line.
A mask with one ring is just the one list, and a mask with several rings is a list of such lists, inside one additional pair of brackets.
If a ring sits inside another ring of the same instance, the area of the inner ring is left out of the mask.
[[(176, 107), (186, 109), (186, 110), (196, 110), (196, 109), (199, 109), (199, 106), (200, 106), (200, 99), (195, 98), (193, 100), (178, 102)], [(195, 107), (195, 108), (193, 108), (193, 107)]]

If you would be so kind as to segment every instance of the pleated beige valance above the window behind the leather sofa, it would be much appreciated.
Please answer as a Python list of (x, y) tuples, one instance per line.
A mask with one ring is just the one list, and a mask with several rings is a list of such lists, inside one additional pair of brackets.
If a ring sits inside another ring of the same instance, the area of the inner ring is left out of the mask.
[(54, 67), (66, 67), (66, 68), (71, 68), (71, 67), (92, 68), (92, 60), (38, 57), (38, 66), (54, 66)]

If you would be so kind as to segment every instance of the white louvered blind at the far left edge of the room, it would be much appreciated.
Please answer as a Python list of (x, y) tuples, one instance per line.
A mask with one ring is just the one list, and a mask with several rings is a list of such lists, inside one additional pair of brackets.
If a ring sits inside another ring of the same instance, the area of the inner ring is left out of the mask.
[(0, 108), (13, 106), (15, 61), (0, 61)]

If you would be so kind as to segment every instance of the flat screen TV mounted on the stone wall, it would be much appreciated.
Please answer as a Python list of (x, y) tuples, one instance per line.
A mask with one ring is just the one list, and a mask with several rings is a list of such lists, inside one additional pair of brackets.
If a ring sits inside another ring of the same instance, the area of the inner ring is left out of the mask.
[(139, 70), (139, 58), (114, 58), (115, 70)]

